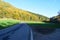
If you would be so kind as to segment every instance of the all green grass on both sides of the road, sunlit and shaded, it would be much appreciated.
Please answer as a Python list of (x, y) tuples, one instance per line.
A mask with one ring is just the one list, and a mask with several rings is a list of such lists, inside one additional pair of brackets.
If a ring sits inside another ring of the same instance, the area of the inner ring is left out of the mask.
[(18, 23), (26, 23), (30, 27), (34, 27), (34, 28), (59, 28), (60, 27), (60, 24), (55, 24), (55, 23), (45, 23), (45, 22), (38, 22), (38, 21), (19, 21), (19, 20), (13, 20), (13, 19), (0, 19), (0, 29), (11, 27), (12, 25), (15, 25)]

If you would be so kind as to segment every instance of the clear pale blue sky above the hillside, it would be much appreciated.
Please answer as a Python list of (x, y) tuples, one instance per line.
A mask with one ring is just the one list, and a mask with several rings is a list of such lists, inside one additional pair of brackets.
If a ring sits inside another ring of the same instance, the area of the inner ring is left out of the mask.
[(13, 6), (37, 14), (52, 17), (60, 10), (60, 0), (4, 0)]

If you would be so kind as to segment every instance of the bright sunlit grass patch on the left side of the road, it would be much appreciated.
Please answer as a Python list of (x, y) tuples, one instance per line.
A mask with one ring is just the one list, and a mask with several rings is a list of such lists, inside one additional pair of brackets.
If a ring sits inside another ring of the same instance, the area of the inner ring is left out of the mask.
[(13, 19), (0, 19), (0, 29), (10, 27), (12, 25), (18, 24), (20, 21)]

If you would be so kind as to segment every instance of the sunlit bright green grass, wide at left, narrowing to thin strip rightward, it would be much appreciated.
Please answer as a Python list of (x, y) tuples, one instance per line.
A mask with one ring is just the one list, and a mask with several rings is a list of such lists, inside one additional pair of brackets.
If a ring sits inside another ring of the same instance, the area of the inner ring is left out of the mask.
[(12, 25), (18, 24), (18, 23), (28, 23), (28, 24), (34, 24), (34, 23), (44, 23), (44, 22), (35, 22), (35, 21), (19, 21), (14, 19), (0, 19), (0, 29), (4, 29), (7, 27), (11, 27)]

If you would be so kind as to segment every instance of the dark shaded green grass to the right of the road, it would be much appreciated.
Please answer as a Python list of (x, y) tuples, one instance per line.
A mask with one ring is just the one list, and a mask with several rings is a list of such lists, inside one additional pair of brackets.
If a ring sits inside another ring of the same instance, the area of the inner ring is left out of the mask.
[(54, 23), (27, 23), (30, 27), (35, 28), (60, 28), (60, 24)]

